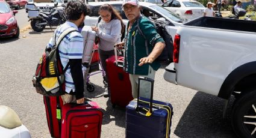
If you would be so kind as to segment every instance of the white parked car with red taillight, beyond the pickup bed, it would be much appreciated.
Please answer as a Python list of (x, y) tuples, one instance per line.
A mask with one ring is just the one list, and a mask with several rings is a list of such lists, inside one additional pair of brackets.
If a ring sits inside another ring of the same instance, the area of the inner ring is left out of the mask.
[(190, 0), (169, 0), (164, 2), (162, 7), (175, 14), (183, 17), (184, 19), (195, 19), (204, 15), (205, 7), (197, 1)]

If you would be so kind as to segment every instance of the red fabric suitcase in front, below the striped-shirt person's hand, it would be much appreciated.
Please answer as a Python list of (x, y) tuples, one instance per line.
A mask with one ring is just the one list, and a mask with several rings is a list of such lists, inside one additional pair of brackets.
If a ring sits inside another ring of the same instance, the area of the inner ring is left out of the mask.
[(101, 137), (102, 111), (93, 101), (62, 107), (61, 138)]

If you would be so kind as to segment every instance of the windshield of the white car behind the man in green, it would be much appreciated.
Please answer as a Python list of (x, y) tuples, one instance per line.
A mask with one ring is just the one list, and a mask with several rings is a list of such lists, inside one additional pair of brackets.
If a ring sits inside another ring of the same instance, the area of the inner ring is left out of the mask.
[(183, 18), (172, 13), (172, 11), (166, 10), (165, 8), (159, 7), (158, 5), (152, 5), (150, 7), (154, 8), (156, 11), (159, 11), (159, 13), (164, 14), (164, 16), (168, 17), (169, 19), (171, 19), (175, 22), (183, 22), (184, 21)]

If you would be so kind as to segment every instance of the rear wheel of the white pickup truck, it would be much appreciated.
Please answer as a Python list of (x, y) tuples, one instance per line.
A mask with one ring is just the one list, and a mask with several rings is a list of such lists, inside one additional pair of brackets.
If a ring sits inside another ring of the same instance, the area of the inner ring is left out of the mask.
[(256, 137), (256, 89), (241, 95), (231, 112), (231, 124), (239, 137)]

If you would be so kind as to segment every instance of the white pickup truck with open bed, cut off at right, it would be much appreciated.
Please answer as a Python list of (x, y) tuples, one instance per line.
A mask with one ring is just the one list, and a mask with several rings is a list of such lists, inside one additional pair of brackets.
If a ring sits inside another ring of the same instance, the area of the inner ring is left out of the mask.
[(225, 105), (234, 95), (234, 133), (256, 137), (256, 22), (199, 17), (178, 28), (173, 47), (164, 79), (224, 98)]

